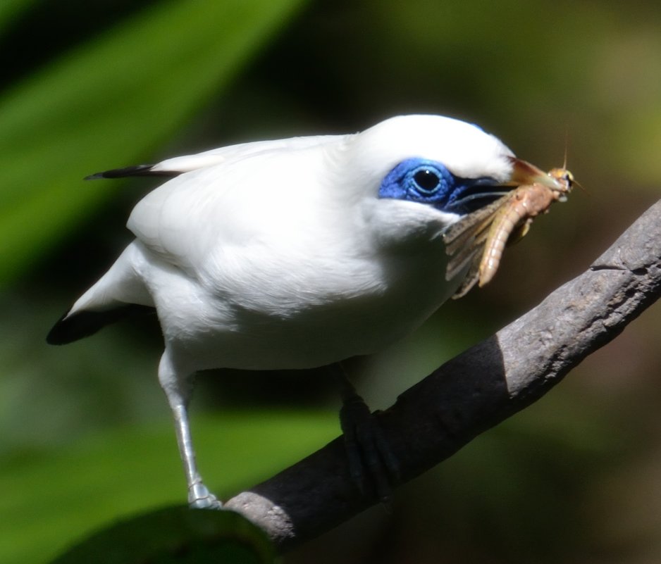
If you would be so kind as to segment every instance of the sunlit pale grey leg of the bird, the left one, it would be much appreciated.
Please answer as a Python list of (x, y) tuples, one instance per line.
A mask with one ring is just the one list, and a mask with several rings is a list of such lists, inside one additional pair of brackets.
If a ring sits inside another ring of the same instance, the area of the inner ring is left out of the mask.
[(188, 375), (182, 376), (175, 370), (166, 350), (159, 365), (159, 381), (168, 397), (168, 403), (170, 403), (175, 420), (179, 454), (188, 482), (188, 504), (195, 509), (220, 509), (223, 504), (206, 488), (197, 471), (195, 451), (190, 436), (190, 423), (188, 421), (187, 406), (190, 399), (190, 382), (187, 382), (187, 377)]

